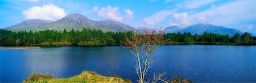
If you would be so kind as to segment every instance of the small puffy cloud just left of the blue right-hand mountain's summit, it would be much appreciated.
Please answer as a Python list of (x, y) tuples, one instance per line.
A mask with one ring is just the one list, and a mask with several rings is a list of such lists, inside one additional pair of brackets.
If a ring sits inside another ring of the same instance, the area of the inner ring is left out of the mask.
[(191, 24), (191, 22), (189, 22), (188, 20), (188, 14), (187, 13), (181, 13), (181, 14), (173, 14), (172, 15), (174, 17), (174, 23), (172, 24), (172, 26), (179, 26), (181, 28), (184, 28), (186, 26), (189, 26)]

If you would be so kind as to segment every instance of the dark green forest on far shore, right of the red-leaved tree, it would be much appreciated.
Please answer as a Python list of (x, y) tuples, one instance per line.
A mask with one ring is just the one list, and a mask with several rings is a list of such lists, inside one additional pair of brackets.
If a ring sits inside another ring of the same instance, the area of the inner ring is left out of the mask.
[(245, 32), (232, 37), (227, 35), (204, 32), (203, 35), (191, 35), (190, 32), (183, 34), (164, 34), (164, 39), (170, 39), (173, 44), (221, 44), (221, 45), (256, 45), (256, 38)]

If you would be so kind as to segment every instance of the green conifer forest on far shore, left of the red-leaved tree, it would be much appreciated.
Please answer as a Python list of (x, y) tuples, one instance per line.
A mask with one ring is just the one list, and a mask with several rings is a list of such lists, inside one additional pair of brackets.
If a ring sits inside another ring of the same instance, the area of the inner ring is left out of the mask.
[(84, 28), (81, 31), (11, 32), (0, 30), (0, 45), (119, 45), (129, 32), (103, 32)]

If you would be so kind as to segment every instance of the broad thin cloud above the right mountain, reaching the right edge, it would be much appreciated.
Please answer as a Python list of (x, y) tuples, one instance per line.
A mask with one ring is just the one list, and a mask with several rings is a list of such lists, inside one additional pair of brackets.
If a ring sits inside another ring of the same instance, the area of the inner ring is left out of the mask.
[(212, 23), (228, 25), (256, 19), (255, 1), (234, 1), (221, 6), (213, 5), (211, 9), (191, 14), (193, 23)]

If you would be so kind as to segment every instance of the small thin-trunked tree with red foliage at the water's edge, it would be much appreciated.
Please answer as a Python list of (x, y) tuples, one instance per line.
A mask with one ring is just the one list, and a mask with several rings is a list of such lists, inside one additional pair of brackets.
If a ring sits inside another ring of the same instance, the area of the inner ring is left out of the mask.
[[(152, 58), (152, 53), (166, 43), (163, 34), (164, 32), (161, 29), (156, 30), (156, 28), (154, 28), (151, 32), (148, 32), (145, 28), (144, 34), (141, 34), (141, 32), (132, 32), (131, 36), (126, 35), (125, 48), (129, 49), (129, 51), (136, 57), (135, 69), (139, 77), (137, 82), (144, 82), (144, 77), (146, 76), (148, 69), (153, 67), (152, 64), (155, 60)], [(165, 74), (166, 73), (155, 74), (151, 82), (165, 80), (162, 79)]]

